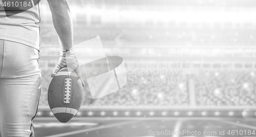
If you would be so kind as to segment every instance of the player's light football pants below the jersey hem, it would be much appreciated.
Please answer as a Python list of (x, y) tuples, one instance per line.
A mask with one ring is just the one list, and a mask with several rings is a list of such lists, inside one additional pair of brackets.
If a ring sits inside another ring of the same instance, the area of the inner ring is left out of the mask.
[(0, 40), (0, 136), (34, 136), (41, 70), (39, 51)]

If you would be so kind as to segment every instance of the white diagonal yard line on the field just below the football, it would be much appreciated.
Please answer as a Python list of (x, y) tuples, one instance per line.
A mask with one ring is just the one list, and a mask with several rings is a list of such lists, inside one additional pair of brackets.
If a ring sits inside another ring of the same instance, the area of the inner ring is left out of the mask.
[(131, 124), (131, 123), (136, 123), (136, 122), (139, 122), (139, 121), (125, 121), (125, 122), (120, 122), (120, 123), (115, 123), (115, 124), (110, 124), (110, 125), (102, 125), (102, 126), (98, 126), (98, 127), (92, 127), (92, 128), (88, 128), (88, 129), (82, 129), (82, 130), (77, 130), (77, 131), (60, 133), (60, 134), (55, 134), (55, 135), (50, 135), (50, 136), (45, 136), (45, 137), (67, 136), (67, 135), (78, 134), (78, 133), (83, 133), (83, 132), (89, 132), (89, 131), (93, 131), (93, 130), (110, 128), (110, 127), (115, 127), (115, 126), (119, 126), (119, 125), (126, 125), (126, 124)]

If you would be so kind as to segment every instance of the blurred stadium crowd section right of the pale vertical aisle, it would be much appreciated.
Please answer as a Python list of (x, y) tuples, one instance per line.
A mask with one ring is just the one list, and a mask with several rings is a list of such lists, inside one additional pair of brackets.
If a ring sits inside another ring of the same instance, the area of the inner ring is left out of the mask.
[(197, 105), (255, 105), (253, 71), (202, 71), (195, 75)]

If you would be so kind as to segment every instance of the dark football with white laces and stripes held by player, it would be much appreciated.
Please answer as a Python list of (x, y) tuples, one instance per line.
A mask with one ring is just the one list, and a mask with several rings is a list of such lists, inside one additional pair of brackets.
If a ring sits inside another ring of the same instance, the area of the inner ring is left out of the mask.
[(71, 120), (82, 102), (82, 83), (77, 74), (62, 68), (51, 80), (48, 89), (48, 103), (59, 122)]

